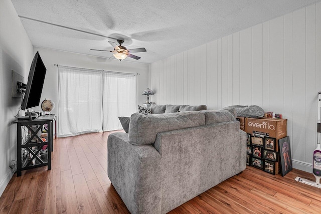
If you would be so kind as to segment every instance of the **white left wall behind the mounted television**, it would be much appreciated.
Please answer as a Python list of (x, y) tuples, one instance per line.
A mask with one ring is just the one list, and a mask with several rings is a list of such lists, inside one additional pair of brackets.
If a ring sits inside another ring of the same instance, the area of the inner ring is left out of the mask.
[[(21, 98), (11, 97), (12, 70), (28, 78), (32, 44), (10, 0), (0, 7), (0, 195), (13, 173), (11, 160), (17, 160), (17, 125), (13, 124)], [(23, 113), (23, 112), (22, 112)]]

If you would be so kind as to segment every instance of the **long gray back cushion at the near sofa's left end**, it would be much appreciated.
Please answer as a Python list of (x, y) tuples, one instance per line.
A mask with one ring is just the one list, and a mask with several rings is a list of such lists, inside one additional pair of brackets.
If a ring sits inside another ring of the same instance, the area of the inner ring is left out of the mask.
[(205, 115), (198, 111), (173, 114), (134, 113), (130, 116), (128, 140), (133, 145), (154, 143), (159, 132), (205, 125)]

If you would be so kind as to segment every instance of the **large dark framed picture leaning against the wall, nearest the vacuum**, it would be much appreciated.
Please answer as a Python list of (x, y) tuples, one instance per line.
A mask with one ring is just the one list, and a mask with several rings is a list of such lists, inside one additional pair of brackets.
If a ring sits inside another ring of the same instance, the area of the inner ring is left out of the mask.
[(282, 176), (292, 170), (292, 157), (290, 148), (290, 137), (286, 136), (279, 139), (280, 162), (282, 168)]

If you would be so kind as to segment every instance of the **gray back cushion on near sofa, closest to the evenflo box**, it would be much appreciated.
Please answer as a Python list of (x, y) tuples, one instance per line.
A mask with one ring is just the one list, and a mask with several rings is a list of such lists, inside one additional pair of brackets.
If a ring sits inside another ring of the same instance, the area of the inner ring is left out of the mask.
[(200, 111), (205, 115), (205, 124), (212, 123), (222, 123), (236, 120), (236, 112), (235, 110), (211, 110), (211, 111)]

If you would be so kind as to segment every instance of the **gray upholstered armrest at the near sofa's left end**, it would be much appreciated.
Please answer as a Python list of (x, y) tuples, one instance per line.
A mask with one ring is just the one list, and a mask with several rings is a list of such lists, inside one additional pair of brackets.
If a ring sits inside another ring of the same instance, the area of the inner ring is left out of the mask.
[(161, 155), (132, 145), (127, 133), (108, 136), (108, 177), (131, 213), (161, 212)]

